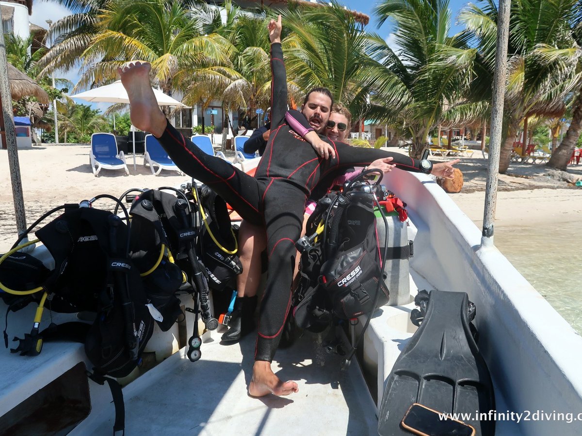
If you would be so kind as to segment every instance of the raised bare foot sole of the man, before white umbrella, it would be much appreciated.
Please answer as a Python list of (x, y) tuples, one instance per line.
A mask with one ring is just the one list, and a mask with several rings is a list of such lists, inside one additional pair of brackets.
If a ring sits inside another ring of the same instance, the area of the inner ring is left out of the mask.
[(129, 97), (132, 124), (159, 138), (166, 129), (166, 117), (159, 110), (158, 101), (151, 89), (150, 70), (149, 62), (135, 60), (127, 62), (117, 72)]

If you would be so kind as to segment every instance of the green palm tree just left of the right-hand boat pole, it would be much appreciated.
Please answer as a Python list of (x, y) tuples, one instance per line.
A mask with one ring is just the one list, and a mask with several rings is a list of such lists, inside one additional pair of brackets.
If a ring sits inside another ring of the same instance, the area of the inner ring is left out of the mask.
[(467, 103), (477, 51), (467, 45), (467, 34), (449, 36), (448, 0), (384, 0), (375, 13), (380, 24), (391, 19), (396, 30), (392, 47), (370, 37), (377, 66), (368, 67), (364, 79), (374, 84), (367, 116), (406, 130), (411, 155), (419, 157), (445, 110)]

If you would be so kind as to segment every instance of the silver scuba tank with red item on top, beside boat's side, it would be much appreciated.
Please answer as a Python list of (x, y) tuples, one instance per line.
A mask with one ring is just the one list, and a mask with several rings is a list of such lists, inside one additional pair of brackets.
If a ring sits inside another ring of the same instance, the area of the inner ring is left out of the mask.
[[(384, 268), (384, 283), (390, 290), (389, 306), (402, 306), (410, 303), (409, 258), (413, 255), (412, 241), (408, 240), (406, 204), (395, 196), (381, 201), (386, 222), (380, 211), (375, 208), (376, 232), (380, 253), (384, 253), (385, 235), (388, 231), (388, 254)], [(386, 227), (388, 224), (388, 227)]]

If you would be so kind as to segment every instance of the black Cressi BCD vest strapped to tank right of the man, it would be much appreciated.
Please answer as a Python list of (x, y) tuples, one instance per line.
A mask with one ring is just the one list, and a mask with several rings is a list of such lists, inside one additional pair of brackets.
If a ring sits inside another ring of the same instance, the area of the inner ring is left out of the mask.
[(385, 201), (391, 192), (355, 180), (318, 201), (307, 221), (310, 236), (296, 244), (301, 266), (293, 315), (300, 328), (322, 331), (334, 318), (369, 315), (388, 302), (374, 194)]

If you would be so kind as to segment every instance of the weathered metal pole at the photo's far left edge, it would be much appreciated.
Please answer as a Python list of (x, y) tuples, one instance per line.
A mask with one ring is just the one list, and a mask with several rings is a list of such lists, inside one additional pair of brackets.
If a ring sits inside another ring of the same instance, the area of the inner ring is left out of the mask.
[(19, 235), (26, 230), (26, 215), (24, 213), (24, 196), (22, 194), (22, 180), (20, 180), (20, 164), (18, 162), (18, 148), (16, 146), (16, 131), (12, 119), (12, 95), (8, 84), (8, 66), (6, 66), (6, 45), (4, 33), (0, 32), (0, 101), (2, 102), (2, 116), (6, 136), (6, 152), (10, 169), (10, 183), (12, 184), (12, 199), (16, 216), (16, 231)]

